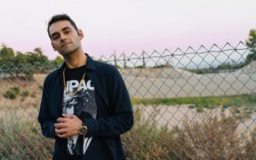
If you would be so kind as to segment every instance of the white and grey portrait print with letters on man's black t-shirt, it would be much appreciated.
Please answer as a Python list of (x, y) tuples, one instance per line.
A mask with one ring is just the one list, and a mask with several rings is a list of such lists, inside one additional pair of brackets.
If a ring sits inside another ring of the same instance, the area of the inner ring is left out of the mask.
[[(76, 92), (80, 82), (77, 80), (67, 81), (67, 88), (69, 92)], [(94, 86), (92, 81), (85, 82), (82, 80), (82, 85), (76, 95), (70, 96), (64, 91), (63, 96), (63, 114), (74, 114), (80, 119), (94, 118), (97, 116), (97, 105), (94, 95)], [(68, 138), (67, 151), (68, 155), (84, 155), (86, 149), (89, 147), (92, 137), (84, 138), (82, 135)]]

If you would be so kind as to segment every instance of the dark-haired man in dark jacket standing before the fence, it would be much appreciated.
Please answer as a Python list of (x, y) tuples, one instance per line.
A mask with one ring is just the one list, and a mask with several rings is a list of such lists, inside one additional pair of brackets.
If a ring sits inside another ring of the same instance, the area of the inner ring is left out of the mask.
[(133, 115), (124, 80), (84, 53), (84, 34), (68, 15), (53, 16), (47, 31), (65, 60), (44, 80), (38, 115), (44, 136), (55, 139), (52, 159), (125, 159), (120, 135)]

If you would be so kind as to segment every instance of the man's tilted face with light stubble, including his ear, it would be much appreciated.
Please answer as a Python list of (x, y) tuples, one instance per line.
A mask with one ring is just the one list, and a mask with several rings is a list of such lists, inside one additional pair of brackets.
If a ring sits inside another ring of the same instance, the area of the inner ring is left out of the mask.
[(71, 25), (68, 20), (60, 20), (49, 28), (52, 47), (54, 51), (60, 52), (62, 56), (68, 55), (70, 52), (76, 52), (81, 47), (81, 39), (84, 37), (83, 32)]

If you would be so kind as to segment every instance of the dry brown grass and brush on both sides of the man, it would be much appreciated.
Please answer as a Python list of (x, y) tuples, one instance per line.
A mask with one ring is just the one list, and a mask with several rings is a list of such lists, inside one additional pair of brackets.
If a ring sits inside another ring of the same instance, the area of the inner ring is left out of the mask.
[[(36, 116), (45, 75), (34, 80), (0, 79), (0, 159), (51, 158), (53, 140), (43, 138)], [(18, 96), (7, 100), (4, 91), (19, 87), (35, 92), (36, 97)], [(208, 113), (208, 112), (207, 112)], [(256, 158), (256, 129), (248, 135), (237, 134), (235, 116), (203, 115), (203, 121), (186, 119), (179, 127), (161, 127), (151, 118), (143, 119), (135, 110), (131, 132), (122, 136), (127, 159), (253, 159)]]

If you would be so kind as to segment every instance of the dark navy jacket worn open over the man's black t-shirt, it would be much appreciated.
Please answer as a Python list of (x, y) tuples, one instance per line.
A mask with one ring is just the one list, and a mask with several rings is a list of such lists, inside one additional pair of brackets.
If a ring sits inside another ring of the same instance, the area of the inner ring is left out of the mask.
[[(94, 61), (88, 55), (87, 58), (85, 72), (94, 84), (98, 109), (96, 119), (83, 119), (89, 128), (86, 136), (92, 137), (83, 159), (124, 159), (120, 134), (129, 131), (133, 124), (132, 104), (124, 80), (114, 66)], [(60, 139), (54, 132), (54, 124), (62, 114), (65, 66), (64, 63), (46, 76), (38, 115), (43, 135), (56, 140), (52, 159), (67, 159), (67, 139)]]

